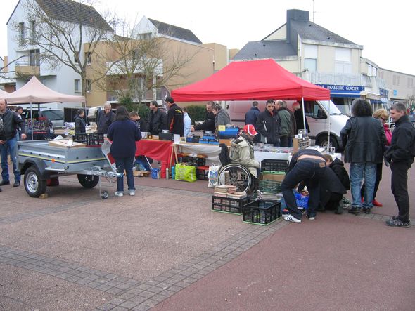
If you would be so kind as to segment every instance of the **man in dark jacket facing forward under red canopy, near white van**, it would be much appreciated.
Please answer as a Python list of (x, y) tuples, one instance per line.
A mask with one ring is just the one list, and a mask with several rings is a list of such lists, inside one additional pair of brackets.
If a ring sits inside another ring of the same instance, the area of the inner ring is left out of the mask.
[(264, 112), (258, 115), (256, 129), (261, 134), (263, 143), (279, 146), (281, 119), (275, 110), (274, 100), (267, 100)]

